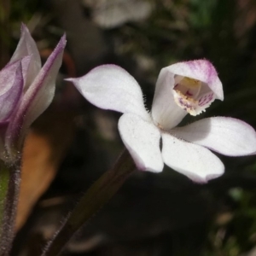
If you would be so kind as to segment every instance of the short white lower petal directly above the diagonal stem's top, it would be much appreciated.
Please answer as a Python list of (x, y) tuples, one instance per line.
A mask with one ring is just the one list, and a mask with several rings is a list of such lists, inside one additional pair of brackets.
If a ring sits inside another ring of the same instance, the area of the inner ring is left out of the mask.
[(132, 113), (119, 119), (119, 133), (139, 170), (161, 172), (160, 131), (154, 124)]

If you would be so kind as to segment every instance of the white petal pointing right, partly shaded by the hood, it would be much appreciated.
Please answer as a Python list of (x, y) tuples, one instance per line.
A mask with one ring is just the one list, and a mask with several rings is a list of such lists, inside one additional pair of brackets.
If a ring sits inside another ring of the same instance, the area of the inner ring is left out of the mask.
[(172, 134), (220, 154), (240, 156), (256, 153), (256, 132), (252, 126), (239, 119), (201, 119), (174, 129)]

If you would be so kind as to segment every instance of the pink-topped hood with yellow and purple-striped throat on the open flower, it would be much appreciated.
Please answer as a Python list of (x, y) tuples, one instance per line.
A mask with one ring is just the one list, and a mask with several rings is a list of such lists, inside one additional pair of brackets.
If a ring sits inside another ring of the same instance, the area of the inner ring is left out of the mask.
[(164, 67), (154, 92), (152, 117), (165, 131), (177, 126), (187, 113), (197, 115), (216, 99), (223, 89), (211, 62), (186, 61)]

